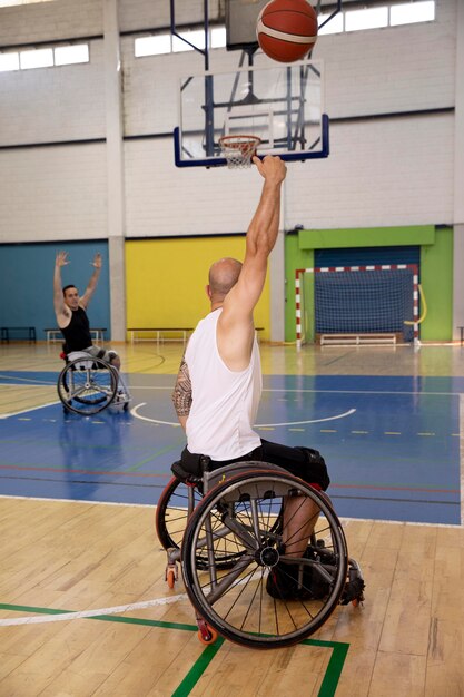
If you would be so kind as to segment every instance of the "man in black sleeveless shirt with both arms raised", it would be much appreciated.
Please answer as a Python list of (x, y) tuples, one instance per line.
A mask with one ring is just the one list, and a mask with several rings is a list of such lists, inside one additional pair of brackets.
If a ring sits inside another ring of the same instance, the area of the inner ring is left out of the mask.
[[(69, 355), (76, 351), (81, 351), (92, 355), (97, 359), (103, 359), (118, 371), (121, 366), (121, 361), (116, 351), (106, 351), (92, 343), (90, 335), (90, 324), (87, 316), (87, 306), (90, 303), (92, 295), (97, 288), (98, 278), (101, 272), (101, 254), (96, 254), (91, 265), (93, 266), (93, 273), (90, 277), (86, 292), (80, 297), (79, 292), (75, 285), (67, 285), (61, 287), (61, 267), (69, 264), (68, 253), (58, 252), (55, 261), (55, 275), (53, 275), (53, 306), (57, 317), (58, 326), (60, 327), (65, 336), (65, 353)], [(119, 393), (124, 397), (127, 390), (124, 390), (124, 383), (119, 376), (120, 387)]]

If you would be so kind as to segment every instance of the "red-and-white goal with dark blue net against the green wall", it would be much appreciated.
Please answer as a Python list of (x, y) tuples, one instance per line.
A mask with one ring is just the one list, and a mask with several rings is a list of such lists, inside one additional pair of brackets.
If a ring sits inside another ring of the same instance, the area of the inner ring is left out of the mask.
[(416, 264), (297, 268), (297, 348), (315, 334), (401, 333), (417, 344), (418, 304)]

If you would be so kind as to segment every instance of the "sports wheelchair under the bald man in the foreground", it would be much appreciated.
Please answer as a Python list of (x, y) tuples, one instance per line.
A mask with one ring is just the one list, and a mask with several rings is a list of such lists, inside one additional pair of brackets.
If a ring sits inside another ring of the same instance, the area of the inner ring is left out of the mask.
[[(348, 558), (340, 522), (324, 492), (266, 462), (208, 471), (208, 459), (201, 458), (201, 477), (186, 472), (180, 462), (171, 470), (156, 530), (167, 550), (169, 588), (180, 562), (203, 644), (221, 635), (254, 648), (292, 646), (314, 634), (338, 605), (364, 600), (361, 568)], [(310, 501), (320, 510), (302, 558), (287, 556), (283, 543), (284, 510), (294, 497), (297, 505)], [(269, 593), (277, 570), (294, 585), (292, 598), (279, 586)]]

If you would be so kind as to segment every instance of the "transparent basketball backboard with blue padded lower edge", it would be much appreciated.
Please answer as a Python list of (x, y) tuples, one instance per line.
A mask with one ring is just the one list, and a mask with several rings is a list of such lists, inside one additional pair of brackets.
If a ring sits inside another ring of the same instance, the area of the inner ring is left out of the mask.
[(285, 160), (327, 157), (329, 125), (323, 104), (322, 61), (186, 77), (174, 132), (176, 165), (226, 165), (219, 138), (228, 135), (257, 136), (258, 155)]

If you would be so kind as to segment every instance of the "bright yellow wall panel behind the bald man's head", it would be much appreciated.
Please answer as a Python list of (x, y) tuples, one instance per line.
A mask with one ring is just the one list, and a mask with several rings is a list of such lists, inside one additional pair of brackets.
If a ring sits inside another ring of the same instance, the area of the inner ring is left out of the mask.
[[(208, 314), (210, 265), (225, 256), (243, 261), (245, 237), (186, 237), (126, 242), (127, 326), (196, 326)], [(260, 336), (269, 337), (269, 283), (255, 310)]]

